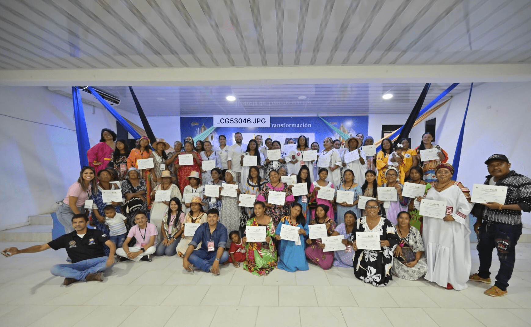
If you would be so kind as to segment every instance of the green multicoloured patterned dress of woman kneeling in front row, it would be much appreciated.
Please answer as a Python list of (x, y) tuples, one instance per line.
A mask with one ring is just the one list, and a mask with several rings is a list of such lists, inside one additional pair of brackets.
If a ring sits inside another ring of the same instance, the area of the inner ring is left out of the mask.
[(247, 226), (265, 226), (265, 236), (270, 237), (269, 242), (247, 242), (245, 251), (246, 260), (243, 269), (256, 276), (265, 276), (277, 266), (277, 249), (275, 248), (275, 224), (271, 220), (267, 225), (260, 225), (253, 217)]

